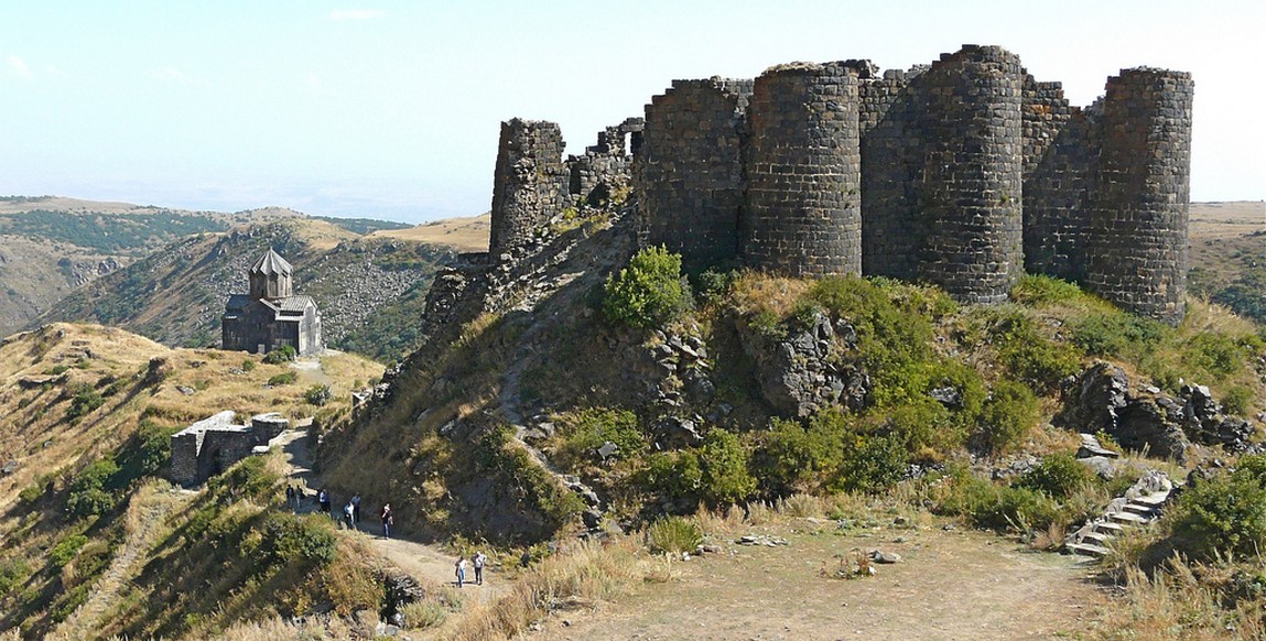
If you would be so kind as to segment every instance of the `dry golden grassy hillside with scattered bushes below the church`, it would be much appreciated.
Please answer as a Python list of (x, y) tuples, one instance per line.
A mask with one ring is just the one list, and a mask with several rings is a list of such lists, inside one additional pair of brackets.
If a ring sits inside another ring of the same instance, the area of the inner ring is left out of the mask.
[(67, 324), (0, 344), (0, 630), (205, 637), (313, 603), (373, 606), (381, 588), (353, 541), (328, 520), (270, 510), (281, 503), (276, 456), (200, 493), (161, 480), (170, 435), (190, 422), (222, 410), (337, 413), (382, 369), (352, 355), (323, 365), (332, 394), (316, 407), (289, 364), (241, 353)]

